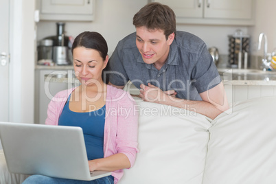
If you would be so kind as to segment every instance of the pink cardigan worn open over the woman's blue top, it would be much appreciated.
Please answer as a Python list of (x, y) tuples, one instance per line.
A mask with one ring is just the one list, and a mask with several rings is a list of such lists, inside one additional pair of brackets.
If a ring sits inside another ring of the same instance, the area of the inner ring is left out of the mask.
[[(76, 89), (58, 92), (48, 105), (45, 124), (58, 125), (58, 118), (67, 98)], [(106, 121), (104, 125), (104, 157), (116, 153), (124, 153), (133, 166), (137, 149), (138, 111), (135, 101), (129, 93), (107, 85), (106, 92)], [(124, 174), (123, 170), (112, 173), (114, 183)]]

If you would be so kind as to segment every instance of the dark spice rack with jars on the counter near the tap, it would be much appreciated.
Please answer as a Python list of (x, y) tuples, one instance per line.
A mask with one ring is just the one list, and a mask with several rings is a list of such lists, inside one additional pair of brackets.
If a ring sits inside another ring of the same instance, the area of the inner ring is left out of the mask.
[(241, 30), (236, 30), (233, 35), (229, 35), (229, 55), (228, 65), (231, 68), (247, 68), (249, 65), (249, 44), (250, 36), (243, 34)]

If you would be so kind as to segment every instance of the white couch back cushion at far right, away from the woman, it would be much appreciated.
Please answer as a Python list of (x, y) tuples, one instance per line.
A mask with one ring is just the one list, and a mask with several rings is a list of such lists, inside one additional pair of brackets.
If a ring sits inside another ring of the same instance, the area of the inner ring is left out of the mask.
[(276, 183), (276, 97), (233, 104), (216, 117), (204, 184)]

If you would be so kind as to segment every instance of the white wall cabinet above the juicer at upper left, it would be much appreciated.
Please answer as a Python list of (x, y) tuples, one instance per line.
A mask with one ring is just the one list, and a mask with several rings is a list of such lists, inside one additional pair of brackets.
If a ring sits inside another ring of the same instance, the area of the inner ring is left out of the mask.
[(37, 0), (41, 20), (93, 21), (95, 0)]

